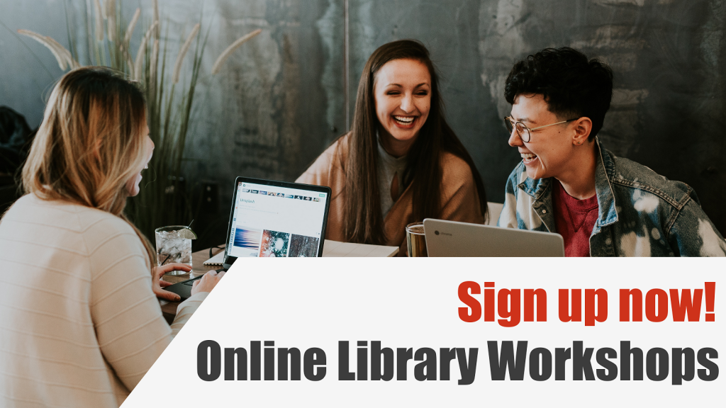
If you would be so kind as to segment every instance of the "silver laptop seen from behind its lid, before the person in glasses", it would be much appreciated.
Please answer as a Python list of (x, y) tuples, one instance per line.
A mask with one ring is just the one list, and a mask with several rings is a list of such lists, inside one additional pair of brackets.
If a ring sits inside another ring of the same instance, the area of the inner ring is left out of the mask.
[(423, 220), (428, 256), (565, 256), (560, 234)]

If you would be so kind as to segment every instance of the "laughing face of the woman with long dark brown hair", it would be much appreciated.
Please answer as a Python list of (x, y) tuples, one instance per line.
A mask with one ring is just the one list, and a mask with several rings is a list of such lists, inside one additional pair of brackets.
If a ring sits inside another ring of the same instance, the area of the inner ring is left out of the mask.
[(383, 147), (405, 155), (431, 109), (431, 73), (417, 60), (386, 62), (375, 75), (373, 93)]

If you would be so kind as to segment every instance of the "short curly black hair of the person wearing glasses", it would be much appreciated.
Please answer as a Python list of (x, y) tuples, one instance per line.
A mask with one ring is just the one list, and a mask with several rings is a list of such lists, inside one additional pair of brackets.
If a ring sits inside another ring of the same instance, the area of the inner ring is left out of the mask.
[(514, 65), (504, 94), (510, 104), (519, 94), (542, 94), (550, 112), (559, 118), (590, 118), (592, 140), (610, 108), (613, 70), (568, 46), (546, 48)]

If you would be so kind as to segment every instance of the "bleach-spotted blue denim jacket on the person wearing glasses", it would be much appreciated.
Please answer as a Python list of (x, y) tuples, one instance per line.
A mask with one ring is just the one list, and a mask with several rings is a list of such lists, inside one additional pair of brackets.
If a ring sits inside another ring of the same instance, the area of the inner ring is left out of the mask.
[[(597, 151), (590, 256), (726, 256), (726, 242), (687, 184), (618, 158), (599, 141)], [(556, 232), (552, 179), (529, 179), (519, 163), (497, 225)]]

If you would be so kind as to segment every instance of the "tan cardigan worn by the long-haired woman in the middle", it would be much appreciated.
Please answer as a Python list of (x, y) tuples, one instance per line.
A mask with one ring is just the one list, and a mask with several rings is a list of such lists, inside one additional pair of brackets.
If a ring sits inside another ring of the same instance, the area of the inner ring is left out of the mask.
[[(349, 134), (341, 137), (303, 173), (296, 182), (327, 186), (333, 190), (330, 198), (330, 216), (327, 220), (325, 238), (346, 242), (343, 236), (343, 217), (345, 215), (346, 197), (346, 160), (348, 158)], [(441, 153), (441, 219), (450, 221), (484, 223), (484, 216), (479, 205), (471, 168), (462, 159), (452, 153)], [(399, 256), (408, 253), (406, 245), (406, 226), (412, 222), (423, 221), (413, 219), (413, 191), (411, 186), (393, 203), (383, 220), (386, 233), (386, 245), (399, 247)]]

